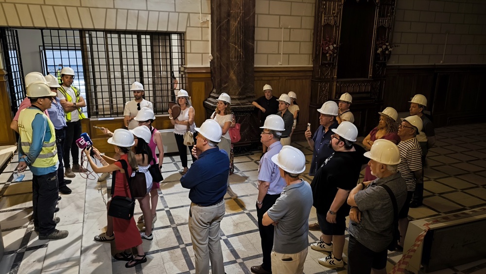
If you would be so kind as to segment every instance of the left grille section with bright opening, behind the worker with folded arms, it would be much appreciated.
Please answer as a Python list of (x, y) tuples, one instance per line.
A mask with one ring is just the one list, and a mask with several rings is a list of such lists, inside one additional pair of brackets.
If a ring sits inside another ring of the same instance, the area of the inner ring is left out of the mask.
[[(78, 89), (86, 100), (81, 48), (81, 39), (77, 30), (42, 30), (41, 55), (44, 74), (52, 74), (60, 79), (59, 66), (70, 67), (74, 71), (72, 86)], [(86, 114), (87, 108), (82, 108), (82, 111)]]

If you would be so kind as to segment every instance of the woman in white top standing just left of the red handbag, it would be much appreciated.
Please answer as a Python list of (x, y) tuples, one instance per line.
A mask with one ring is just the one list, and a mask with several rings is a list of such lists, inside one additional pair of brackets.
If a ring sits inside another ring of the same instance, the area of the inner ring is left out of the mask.
[(231, 115), (231, 97), (226, 93), (221, 93), (218, 98), (218, 105), (216, 106), (216, 111), (211, 115), (211, 119), (218, 122), (218, 124), (223, 129), (223, 135), (221, 137), (221, 142), (218, 146), (231, 154), (231, 137), (229, 137), (229, 127), (231, 126), (231, 121), (233, 120), (233, 115)]

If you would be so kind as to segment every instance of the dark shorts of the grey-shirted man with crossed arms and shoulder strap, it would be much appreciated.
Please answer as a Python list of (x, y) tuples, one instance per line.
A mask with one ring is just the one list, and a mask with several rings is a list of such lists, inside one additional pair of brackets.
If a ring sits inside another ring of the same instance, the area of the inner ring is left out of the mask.
[[(378, 239), (377, 239), (378, 240)], [(361, 244), (355, 237), (349, 235), (347, 246), (347, 273), (370, 273), (371, 269), (386, 267), (387, 250), (374, 252)]]

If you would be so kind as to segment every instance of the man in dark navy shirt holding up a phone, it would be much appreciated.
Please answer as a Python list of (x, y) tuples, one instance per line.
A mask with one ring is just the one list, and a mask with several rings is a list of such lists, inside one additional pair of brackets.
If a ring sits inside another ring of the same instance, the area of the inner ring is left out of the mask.
[[(309, 170), (309, 175), (314, 176), (317, 169), (324, 163), (329, 155), (331, 155), (334, 150), (332, 147), (328, 146), (331, 140), (332, 131), (330, 129), (337, 128), (338, 123), (336, 121), (336, 116), (338, 115), (338, 106), (336, 102), (327, 101), (322, 105), (320, 109), (318, 109), (321, 113), (319, 116), (319, 128), (314, 133), (314, 137), (312, 137), (311, 128), (307, 128), (305, 134), (305, 138), (309, 147), (311, 147), (313, 154), (312, 154), (312, 162), (311, 162), (311, 169)], [(310, 230), (319, 230), (319, 224), (313, 223), (309, 225)]]

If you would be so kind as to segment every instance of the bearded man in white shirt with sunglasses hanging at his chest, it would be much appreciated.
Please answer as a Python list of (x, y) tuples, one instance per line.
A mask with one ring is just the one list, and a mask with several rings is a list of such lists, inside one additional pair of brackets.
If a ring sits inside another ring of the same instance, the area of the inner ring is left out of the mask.
[(133, 119), (135, 116), (137, 116), (139, 110), (141, 110), (141, 108), (149, 108), (154, 110), (154, 107), (152, 106), (151, 102), (143, 99), (145, 91), (143, 90), (142, 84), (135, 81), (132, 84), (130, 91), (133, 91), (133, 97), (135, 97), (135, 99), (125, 103), (125, 109), (123, 110), (123, 123), (126, 128), (134, 129), (139, 126), (139, 123)]

